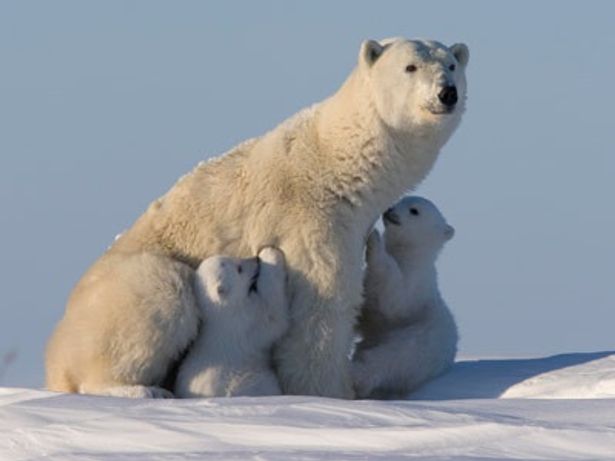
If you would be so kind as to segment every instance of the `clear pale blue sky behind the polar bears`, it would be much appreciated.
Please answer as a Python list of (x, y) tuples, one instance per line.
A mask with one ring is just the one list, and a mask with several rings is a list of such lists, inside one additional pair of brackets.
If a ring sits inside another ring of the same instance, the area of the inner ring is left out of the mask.
[(0, 2), (0, 384), (41, 386), (71, 287), (199, 160), (340, 85), (366, 38), (468, 44), (417, 193), (461, 353), (615, 349), (614, 2)]

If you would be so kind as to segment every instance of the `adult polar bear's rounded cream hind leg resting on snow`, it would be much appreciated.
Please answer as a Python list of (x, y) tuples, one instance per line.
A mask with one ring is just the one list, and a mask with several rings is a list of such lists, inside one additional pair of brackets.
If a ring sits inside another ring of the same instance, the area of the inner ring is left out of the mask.
[(75, 288), (48, 348), (48, 376), (62, 370), (72, 388), (50, 379), (49, 389), (169, 396), (160, 386), (198, 331), (193, 277), (162, 255), (103, 256)]

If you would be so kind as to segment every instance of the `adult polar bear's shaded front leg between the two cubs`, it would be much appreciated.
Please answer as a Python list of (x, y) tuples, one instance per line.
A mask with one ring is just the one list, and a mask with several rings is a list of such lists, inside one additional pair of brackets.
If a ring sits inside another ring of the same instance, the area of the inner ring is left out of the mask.
[[(345, 267), (342, 257), (323, 264), (312, 262), (310, 267), (316, 270), (300, 273), (291, 257), (291, 326), (275, 350), (282, 390), (285, 394), (352, 399), (349, 355), (362, 299), (360, 258)], [(323, 267), (334, 270), (318, 270)]]

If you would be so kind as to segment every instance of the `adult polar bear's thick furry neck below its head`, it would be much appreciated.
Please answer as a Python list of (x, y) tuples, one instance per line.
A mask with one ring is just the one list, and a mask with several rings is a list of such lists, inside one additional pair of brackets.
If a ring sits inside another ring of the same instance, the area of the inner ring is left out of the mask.
[(355, 70), (315, 114), (323, 187), (340, 205), (336, 213), (363, 215), (367, 226), (423, 180), (443, 144), (436, 130), (392, 130), (369, 95), (369, 82)]

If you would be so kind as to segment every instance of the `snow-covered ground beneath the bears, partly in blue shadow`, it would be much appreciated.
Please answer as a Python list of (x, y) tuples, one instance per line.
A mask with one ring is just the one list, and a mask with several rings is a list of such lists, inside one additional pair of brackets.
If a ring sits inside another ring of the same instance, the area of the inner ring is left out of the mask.
[(615, 352), (461, 361), (408, 401), (0, 389), (0, 460), (615, 460)]

